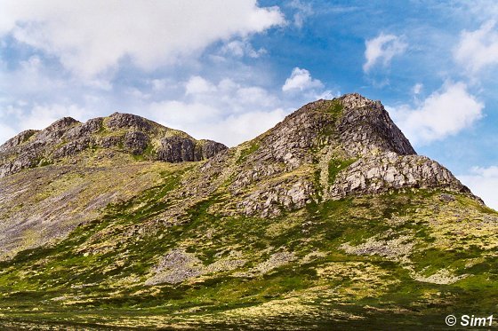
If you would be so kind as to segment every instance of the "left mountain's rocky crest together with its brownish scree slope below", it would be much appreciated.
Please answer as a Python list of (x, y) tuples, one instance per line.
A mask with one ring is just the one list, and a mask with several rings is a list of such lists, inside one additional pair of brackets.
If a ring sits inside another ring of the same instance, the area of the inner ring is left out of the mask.
[(23, 131), (0, 146), (0, 258), (57, 242), (108, 203), (157, 185), (171, 166), (151, 161), (201, 161), (225, 149), (133, 114)]

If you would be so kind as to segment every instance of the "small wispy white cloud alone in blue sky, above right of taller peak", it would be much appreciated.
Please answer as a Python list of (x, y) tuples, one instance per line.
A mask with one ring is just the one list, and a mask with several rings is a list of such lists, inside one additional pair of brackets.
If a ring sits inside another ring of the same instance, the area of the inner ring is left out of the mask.
[(384, 35), (381, 33), (374, 39), (365, 42), (365, 64), (363, 71), (368, 72), (379, 62), (388, 66), (392, 58), (406, 51), (407, 43), (397, 35)]

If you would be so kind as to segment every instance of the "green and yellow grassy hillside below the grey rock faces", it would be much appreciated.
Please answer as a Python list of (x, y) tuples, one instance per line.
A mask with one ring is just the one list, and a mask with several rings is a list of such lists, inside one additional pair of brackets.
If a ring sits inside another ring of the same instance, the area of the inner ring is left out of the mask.
[[(2, 263), (1, 322), (443, 327), (449, 313), (496, 309), (498, 214), (468, 197), (393, 192), (264, 219), (209, 212), (226, 199), (218, 195), (185, 225), (137, 231), (175, 185), (166, 175), (66, 240)], [(181, 282), (146, 285), (172, 251), (183, 257), (170, 264)]]

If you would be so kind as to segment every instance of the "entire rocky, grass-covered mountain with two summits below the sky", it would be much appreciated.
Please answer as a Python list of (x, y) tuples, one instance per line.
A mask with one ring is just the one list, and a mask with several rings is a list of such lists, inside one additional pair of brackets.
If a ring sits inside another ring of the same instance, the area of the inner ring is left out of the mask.
[(444, 328), (498, 296), (498, 213), (379, 101), (227, 148), (132, 114), (0, 146), (0, 325)]

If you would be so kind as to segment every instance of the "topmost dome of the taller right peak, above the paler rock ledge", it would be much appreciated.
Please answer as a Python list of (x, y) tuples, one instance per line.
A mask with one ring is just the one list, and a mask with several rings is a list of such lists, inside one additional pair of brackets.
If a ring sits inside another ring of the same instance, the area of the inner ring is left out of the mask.
[(293, 159), (309, 162), (309, 148), (324, 146), (339, 149), (349, 158), (386, 152), (416, 154), (381, 102), (357, 93), (310, 102), (254, 140), (271, 149), (278, 160), (291, 153)]

